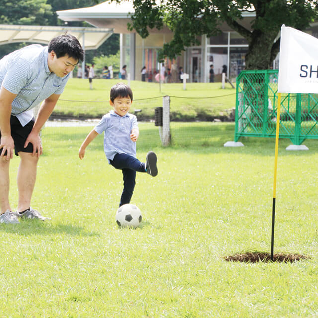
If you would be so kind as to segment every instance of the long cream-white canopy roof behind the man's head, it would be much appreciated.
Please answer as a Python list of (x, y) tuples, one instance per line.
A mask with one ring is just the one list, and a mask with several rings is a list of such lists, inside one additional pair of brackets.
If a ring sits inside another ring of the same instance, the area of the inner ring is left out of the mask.
[(52, 38), (68, 32), (85, 50), (97, 49), (112, 34), (112, 28), (0, 24), (0, 45), (15, 42), (48, 44)]

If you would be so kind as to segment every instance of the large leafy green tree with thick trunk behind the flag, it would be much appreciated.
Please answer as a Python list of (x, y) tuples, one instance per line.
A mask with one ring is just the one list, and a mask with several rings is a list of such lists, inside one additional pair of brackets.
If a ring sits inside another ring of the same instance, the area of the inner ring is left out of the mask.
[[(115, 1), (115, 0), (113, 0)], [(122, 1), (122, 0), (117, 0)], [(186, 47), (197, 45), (198, 36), (221, 32), (226, 22), (249, 44), (247, 69), (267, 69), (279, 51), (282, 24), (304, 30), (318, 17), (316, 0), (133, 0), (135, 13), (130, 30), (146, 38), (149, 30), (167, 26), (174, 34), (164, 44), (161, 57), (179, 55)], [(241, 22), (243, 12), (255, 13), (250, 28)]]

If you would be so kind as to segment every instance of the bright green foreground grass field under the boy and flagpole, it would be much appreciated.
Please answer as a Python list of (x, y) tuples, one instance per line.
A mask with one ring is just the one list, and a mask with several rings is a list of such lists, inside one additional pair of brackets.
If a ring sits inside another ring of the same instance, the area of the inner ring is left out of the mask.
[(222, 257), (270, 250), (275, 141), (224, 148), (234, 124), (195, 125), (205, 138), (172, 123), (174, 146), (162, 148), (153, 124), (140, 124), (137, 157), (155, 151), (159, 174), (137, 175), (135, 230), (115, 223), (122, 177), (102, 136), (80, 161), (90, 127), (44, 130), (32, 203), (52, 221), (0, 225), (0, 317), (318, 317), (317, 141), (288, 152), (281, 140), (278, 158), (275, 252), (311, 259), (231, 263)]

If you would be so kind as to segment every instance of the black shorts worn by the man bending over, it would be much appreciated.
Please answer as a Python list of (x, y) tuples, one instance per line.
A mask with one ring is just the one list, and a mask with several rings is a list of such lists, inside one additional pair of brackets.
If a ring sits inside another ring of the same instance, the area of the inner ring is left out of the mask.
[[(29, 143), (26, 148), (24, 148), (24, 144), (26, 139), (28, 138), (33, 125), (34, 125), (34, 118), (30, 122), (28, 122), (24, 127), (21, 125), (19, 120), (16, 116), (12, 116), (10, 118), (10, 125), (11, 125), (11, 136), (14, 140), (14, 152), (16, 156), (18, 155), (19, 151), (23, 151), (25, 153), (33, 153), (33, 145)], [(0, 132), (1, 138), (1, 132)], [(2, 149), (0, 149), (0, 154)], [(4, 153), (6, 155), (6, 152)]]

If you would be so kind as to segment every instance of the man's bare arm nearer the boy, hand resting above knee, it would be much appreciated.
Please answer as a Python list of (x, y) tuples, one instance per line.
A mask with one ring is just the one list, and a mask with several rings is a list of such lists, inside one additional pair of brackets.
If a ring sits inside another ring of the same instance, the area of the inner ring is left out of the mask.
[(50, 97), (45, 99), (39, 109), (38, 115), (36, 116), (35, 123), (33, 125), (32, 131), (30, 132), (28, 138), (25, 141), (24, 147), (29, 143), (33, 145), (32, 156), (36, 154), (39, 157), (42, 155), (42, 143), (40, 138), (40, 130), (45, 124), (45, 122), (50, 117), (60, 95), (52, 94)]

